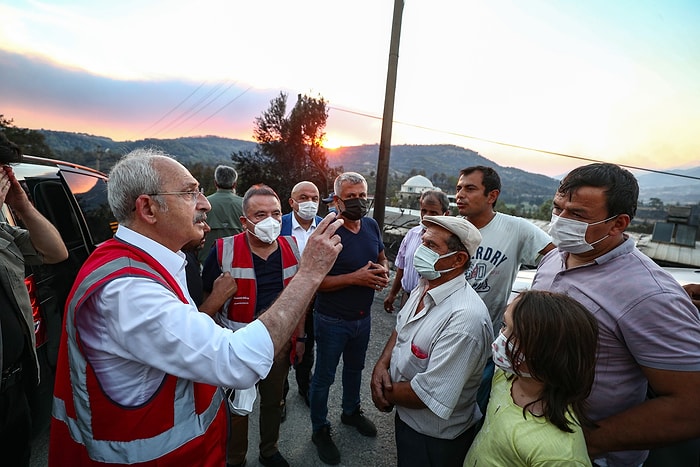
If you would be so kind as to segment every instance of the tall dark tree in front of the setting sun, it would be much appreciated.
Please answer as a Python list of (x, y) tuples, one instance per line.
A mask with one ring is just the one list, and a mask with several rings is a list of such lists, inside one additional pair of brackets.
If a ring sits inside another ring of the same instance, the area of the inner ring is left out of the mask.
[[(299, 94), (287, 114), (287, 94), (280, 92), (255, 119), (253, 138), (257, 148), (231, 155), (238, 170), (239, 192), (265, 183), (284, 200), (302, 180), (315, 183), (322, 195), (333, 191), (338, 169), (329, 167), (323, 150), (327, 119), (328, 107), (322, 97)], [(282, 209), (290, 208), (283, 202)]]

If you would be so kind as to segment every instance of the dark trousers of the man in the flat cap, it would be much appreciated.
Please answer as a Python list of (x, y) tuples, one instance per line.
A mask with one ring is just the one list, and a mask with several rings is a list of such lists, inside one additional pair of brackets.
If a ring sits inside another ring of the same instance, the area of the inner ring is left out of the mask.
[(399, 467), (462, 467), (476, 436), (472, 426), (455, 439), (433, 438), (408, 426), (398, 413), (394, 428)]

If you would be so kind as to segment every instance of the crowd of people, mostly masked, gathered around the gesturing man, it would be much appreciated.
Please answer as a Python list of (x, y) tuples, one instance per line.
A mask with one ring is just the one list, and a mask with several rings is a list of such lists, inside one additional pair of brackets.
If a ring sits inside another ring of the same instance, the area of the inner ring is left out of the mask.
[[(13, 176), (21, 154), (5, 146), (0, 201), (27, 229), (0, 230), (0, 443), (11, 465), (28, 465), (23, 388), (36, 362), (26, 290), (13, 282), (23, 276), (11, 268), (67, 253)], [(258, 462), (288, 466), (278, 441), (292, 368), (308, 442), (339, 464), (350, 453), (334, 441), (328, 406), (342, 357), (340, 422), (377, 435), (360, 403), (368, 384), (376, 409), (394, 412), (399, 466), (664, 465), (655, 453), (673, 446), (697, 467), (700, 286), (684, 290), (625, 234), (638, 197), (627, 170), (571, 171), (547, 234), (496, 211), (493, 168), (465, 168), (458, 216), (444, 193), (421, 196), (393, 282), (359, 173), (340, 174), (326, 199), (304, 180), (289, 194), (256, 184), (241, 197), (233, 167), (213, 175), (205, 197), (153, 149), (110, 171), (119, 226), (66, 303), (50, 466), (245, 465), (258, 394)], [(321, 201), (337, 213), (319, 217)], [(538, 267), (532, 290), (509, 303), (522, 265)], [(385, 289), (396, 325), (366, 362)], [(17, 367), (22, 384), (6, 378)]]

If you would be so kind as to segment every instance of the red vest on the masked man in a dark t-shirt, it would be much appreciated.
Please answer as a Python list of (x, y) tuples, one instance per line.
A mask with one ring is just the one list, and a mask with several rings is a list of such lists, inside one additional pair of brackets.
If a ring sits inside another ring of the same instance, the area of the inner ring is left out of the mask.
[[(282, 254), (282, 284), (283, 287), (287, 287), (298, 269), (299, 249), (292, 237), (278, 237), (277, 244)], [(247, 324), (255, 319), (257, 286), (253, 254), (248, 246), (246, 233), (217, 239), (216, 255), (221, 270), (230, 272), (238, 286), (236, 294), (224, 304), (224, 313), (220, 316), (233, 321), (234, 323), (228, 323), (222, 320), (222, 324), (235, 331), (241, 327), (235, 323)]]

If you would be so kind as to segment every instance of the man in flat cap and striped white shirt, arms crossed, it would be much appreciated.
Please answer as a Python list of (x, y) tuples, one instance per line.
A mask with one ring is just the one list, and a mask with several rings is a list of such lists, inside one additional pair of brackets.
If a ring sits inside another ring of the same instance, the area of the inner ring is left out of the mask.
[(462, 465), (481, 412), (476, 391), (493, 331), (464, 271), (481, 235), (466, 219), (425, 216), (414, 266), (423, 277), (372, 372), (372, 400), (396, 406), (400, 467)]

